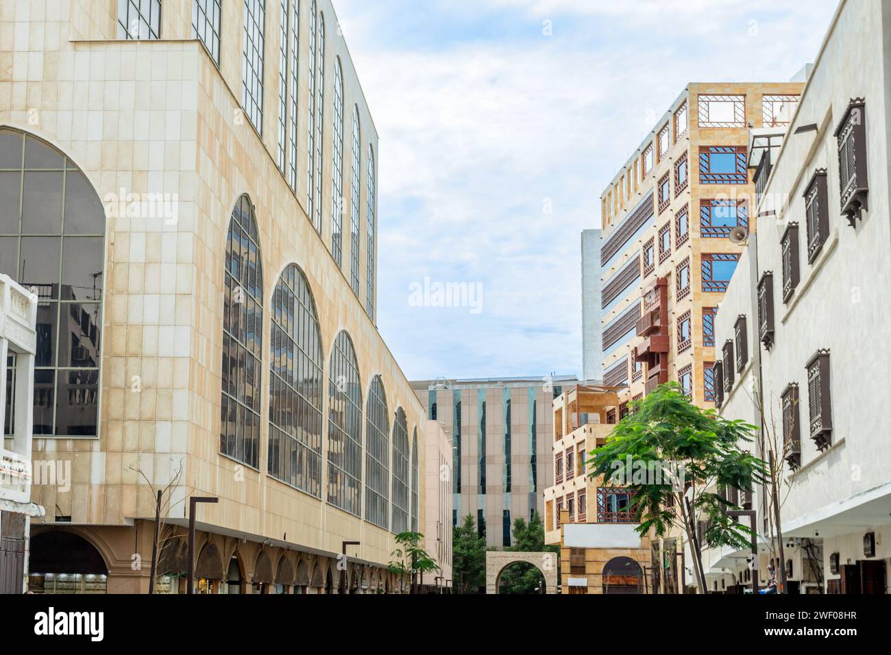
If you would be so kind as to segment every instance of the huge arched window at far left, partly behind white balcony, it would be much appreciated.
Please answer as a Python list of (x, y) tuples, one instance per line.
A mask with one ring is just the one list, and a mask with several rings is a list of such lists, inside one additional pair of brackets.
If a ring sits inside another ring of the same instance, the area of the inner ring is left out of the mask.
[(0, 273), (38, 299), (35, 435), (98, 435), (104, 253), (105, 209), (86, 176), (48, 143), (0, 130)]

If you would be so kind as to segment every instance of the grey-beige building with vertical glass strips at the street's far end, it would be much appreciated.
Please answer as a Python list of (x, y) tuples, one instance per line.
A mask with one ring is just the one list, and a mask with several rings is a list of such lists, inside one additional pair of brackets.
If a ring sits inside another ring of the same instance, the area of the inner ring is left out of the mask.
[(452, 525), (474, 518), (486, 544), (511, 545), (513, 520), (544, 518), (553, 484), (551, 404), (574, 377), (427, 380), (412, 386), (429, 420), (450, 430)]

